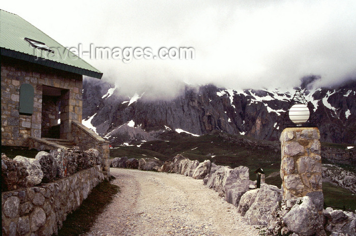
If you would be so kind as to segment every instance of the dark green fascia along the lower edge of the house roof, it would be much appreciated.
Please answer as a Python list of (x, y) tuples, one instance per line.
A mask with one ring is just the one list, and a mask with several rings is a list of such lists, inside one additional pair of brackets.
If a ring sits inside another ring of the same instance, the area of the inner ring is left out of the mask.
[(43, 66), (47, 66), (47, 67), (51, 67), (51, 68), (58, 69), (58, 70), (64, 70), (64, 71), (68, 71), (68, 72), (72, 72), (72, 73), (76, 73), (76, 74), (86, 75), (89, 77), (99, 78), (99, 80), (103, 76), (103, 73), (79, 68), (76, 66), (71, 66), (68, 64), (60, 63), (60, 62), (55, 62), (55, 61), (51, 61), (51, 60), (47, 60), (47, 59), (43, 59), (43, 58), (38, 59), (38, 57), (36, 57), (36, 56), (20, 53), (19, 51), (15, 51), (15, 50), (3, 48), (3, 47), (0, 48), (0, 55), (27, 61), (27, 62), (31, 62), (31, 63), (35, 63), (35, 64), (39, 64), (39, 65), (43, 65)]

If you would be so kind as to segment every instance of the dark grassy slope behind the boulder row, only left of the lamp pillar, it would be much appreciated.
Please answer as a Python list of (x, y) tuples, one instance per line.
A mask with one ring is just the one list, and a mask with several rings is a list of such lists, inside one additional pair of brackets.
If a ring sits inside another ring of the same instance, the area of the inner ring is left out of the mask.
[[(226, 165), (231, 168), (247, 166), (250, 168), (250, 179), (256, 179), (253, 173), (262, 168), (266, 175), (279, 171), (280, 153), (273, 148), (251, 148), (241, 142), (246, 136), (231, 136), (217, 132), (200, 137), (184, 135), (174, 136), (167, 141), (150, 141), (136, 146), (120, 146), (110, 149), (110, 158), (127, 156), (128, 158), (153, 158), (161, 161), (172, 160), (177, 154), (182, 154), (190, 160), (211, 160), (216, 165)], [(142, 154), (146, 155), (143, 156)]]

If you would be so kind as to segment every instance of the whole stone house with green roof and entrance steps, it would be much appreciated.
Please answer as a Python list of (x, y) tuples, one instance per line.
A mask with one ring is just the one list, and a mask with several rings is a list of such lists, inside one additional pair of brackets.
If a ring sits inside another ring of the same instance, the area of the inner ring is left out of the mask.
[(77, 145), (108, 159), (108, 142), (81, 124), (83, 75), (99, 70), (16, 14), (0, 10), (2, 146)]

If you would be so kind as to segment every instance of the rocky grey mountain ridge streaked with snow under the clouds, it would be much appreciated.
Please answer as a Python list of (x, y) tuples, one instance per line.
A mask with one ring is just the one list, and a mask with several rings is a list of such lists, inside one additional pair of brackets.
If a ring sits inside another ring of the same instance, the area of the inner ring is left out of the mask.
[[(356, 82), (302, 92), (316, 117), (321, 141), (356, 143)], [(118, 94), (105, 81), (84, 80), (83, 124), (114, 144), (161, 139), (166, 130), (203, 135), (212, 130), (275, 141), (295, 88), (232, 90), (214, 85), (193, 88), (171, 100)]]

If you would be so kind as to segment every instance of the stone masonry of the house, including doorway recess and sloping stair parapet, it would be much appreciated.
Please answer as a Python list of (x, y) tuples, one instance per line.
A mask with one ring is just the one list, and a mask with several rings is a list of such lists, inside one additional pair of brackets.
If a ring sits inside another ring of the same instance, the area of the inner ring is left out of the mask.
[[(34, 88), (33, 114), (19, 113), (22, 84)], [(46, 95), (48, 90), (59, 94)], [(62, 146), (41, 138), (70, 140), (84, 149), (98, 149), (104, 157), (105, 175), (110, 174), (109, 143), (81, 125), (82, 75), (2, 57), (1, 106), (2, 145), (51, 150)]]

